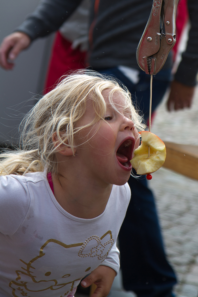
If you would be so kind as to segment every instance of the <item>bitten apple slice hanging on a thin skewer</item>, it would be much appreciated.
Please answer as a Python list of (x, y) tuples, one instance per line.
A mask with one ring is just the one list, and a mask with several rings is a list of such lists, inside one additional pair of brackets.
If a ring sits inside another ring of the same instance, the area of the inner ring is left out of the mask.
[[(150, 174), (157, 171), (164, 164), (166, 147), (157, 135), (148, 131), (139, 133), (142, 137), (141, 145), (135, 149), (135, 155), (130, 162), (137, 174)], [(148, 147), (150, 147), (149, 157)]]

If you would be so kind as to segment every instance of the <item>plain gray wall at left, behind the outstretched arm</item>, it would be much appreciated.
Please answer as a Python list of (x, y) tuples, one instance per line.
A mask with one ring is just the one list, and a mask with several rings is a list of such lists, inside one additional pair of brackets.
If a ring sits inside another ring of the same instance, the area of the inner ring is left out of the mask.
[[(12, 33), (39, 0), (0, 1), (0, 42)], [(53, 36), (40, 38), (18, 56), (13, 70), (0, 69), (0, 145), (18, 142), (18, 125), (43, 90)]]

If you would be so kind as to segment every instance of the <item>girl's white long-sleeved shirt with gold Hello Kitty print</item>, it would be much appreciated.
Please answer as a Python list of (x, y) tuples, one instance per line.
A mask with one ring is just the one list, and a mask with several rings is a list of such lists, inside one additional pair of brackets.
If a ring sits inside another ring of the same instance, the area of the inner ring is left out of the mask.
[(74, 217), (45, 173), (0, 177), (0, 296), (63, 297), (99, 265), (119, 270), (116, 239), (130, 188), (113, 186), (104, 212)]

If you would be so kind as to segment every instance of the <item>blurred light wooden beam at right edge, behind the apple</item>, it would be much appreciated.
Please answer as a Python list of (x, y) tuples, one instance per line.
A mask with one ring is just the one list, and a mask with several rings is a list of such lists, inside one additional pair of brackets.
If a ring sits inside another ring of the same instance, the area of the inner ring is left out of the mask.
[(167, 157), (163, 166), (198, 180), (198, 146), (164, 143)]

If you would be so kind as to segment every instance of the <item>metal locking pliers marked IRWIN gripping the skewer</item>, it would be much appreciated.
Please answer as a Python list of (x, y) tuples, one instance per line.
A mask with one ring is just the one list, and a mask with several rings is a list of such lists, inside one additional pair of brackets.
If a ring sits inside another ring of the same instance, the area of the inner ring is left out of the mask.
[(153, 0), (151, 14), (136, 51), (137, 63), (147, 74), (155, 75), (160, 71), (175, 45), (177, 5), (178, 0)]

